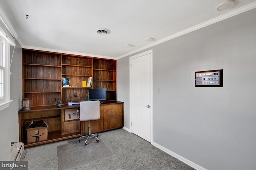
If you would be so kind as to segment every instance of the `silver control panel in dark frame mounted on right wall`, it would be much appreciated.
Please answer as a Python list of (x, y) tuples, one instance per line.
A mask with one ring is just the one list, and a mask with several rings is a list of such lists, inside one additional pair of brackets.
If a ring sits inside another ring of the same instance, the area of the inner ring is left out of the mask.
[(209, 70), (196, 72), (195, 86), (223, 87), (223, 70)]

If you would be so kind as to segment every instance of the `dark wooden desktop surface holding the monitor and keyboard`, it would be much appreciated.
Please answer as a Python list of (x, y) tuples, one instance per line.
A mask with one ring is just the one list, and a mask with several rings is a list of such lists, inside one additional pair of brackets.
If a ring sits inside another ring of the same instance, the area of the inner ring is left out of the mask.
[[(111, 102), (103, 102), (100, 105), (118, 104), (118, 103), (124, 103), (124, 102), (111, 101)], [(56, 107), (56, 105), (52, 105), (52, 106), (34, 106), (34, 107), (31, 107), (31, 109), (28, 110), (28, 111), (24, 111), (24, 110), (20, 109), (19, 112), (30, 112), (30, 111), (41, 111), (41, 110), (56, 110), (56, 109), (70, 109), (70, 108), (79, 108), (79, 107), (80, 107), (80, 105), (68, 106), (68, 104), (62, 104), (62, 107)]]

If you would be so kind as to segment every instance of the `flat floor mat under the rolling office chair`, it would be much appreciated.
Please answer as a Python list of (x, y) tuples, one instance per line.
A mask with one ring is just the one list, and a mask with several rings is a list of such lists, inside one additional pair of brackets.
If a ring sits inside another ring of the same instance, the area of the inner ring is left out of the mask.
[(84, 145), (84, 140), (78, 143), (77, 139), (69, 139), (67, 144), (58, 146), (58, 169), (69, 170), (74, 166), (112, 155), (112, 152), (102, 141), (96, 143), (94, 139), (90, 139), (88, 139), (87, 146)]

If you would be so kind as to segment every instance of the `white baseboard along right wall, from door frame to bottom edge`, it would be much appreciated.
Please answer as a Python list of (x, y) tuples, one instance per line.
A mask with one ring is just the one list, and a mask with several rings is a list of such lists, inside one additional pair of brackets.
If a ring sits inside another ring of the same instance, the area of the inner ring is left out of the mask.
[(152, 145), (154, 145), (155, 147), (157, 147), (158, 149), (161, 149), (162, 151), (170, 154), (171, 156), (173, 156), (174, 158), (177, 158), (178, 160), (184, 162), (185, 164), (191, 166), (192, 168), (195, 168), (196, 170), (207, 170), (205, 168), (203, 168), (202, 166), (198, 165), (198, 164), (195, 164), (194, 162), (180, 156), (179, 154), (176, 154), (174, 152), (172, 152), (171, 150), (169, 149), (166, 149), (165, 147), (162, 147), (161, 145), (155, 143), (155, 142), (152, 142), (151, 143)]

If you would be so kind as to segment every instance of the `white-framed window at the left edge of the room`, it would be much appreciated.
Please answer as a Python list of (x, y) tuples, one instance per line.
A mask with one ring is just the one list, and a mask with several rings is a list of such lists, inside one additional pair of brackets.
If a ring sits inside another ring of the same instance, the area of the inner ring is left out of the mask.
[(0, 111), (10, 105), (10, 44), (0, 32)]

